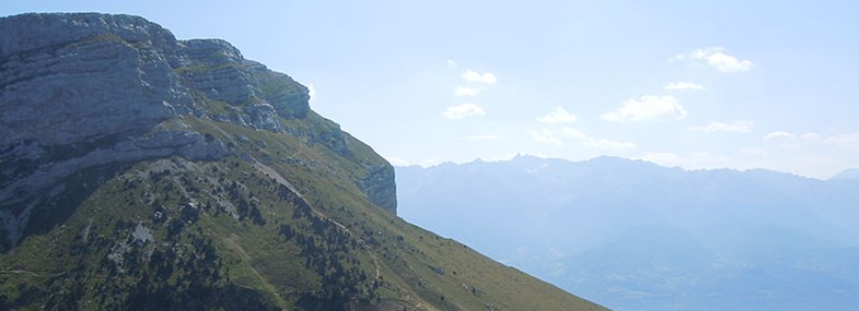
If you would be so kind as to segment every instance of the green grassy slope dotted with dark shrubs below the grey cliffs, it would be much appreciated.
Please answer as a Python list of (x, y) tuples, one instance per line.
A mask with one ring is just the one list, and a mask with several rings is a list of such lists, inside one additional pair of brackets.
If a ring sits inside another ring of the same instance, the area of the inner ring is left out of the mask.
[[(282, 121), (304, 133), (332, 124)], [(209, 133), (237, 156), (70, 178), (0, 254), (0, 306), (603, 310), (371, 204), (356, 180), (383, 159), (348, 135), (341, 155), (311, 134), (196, 118), (164, 127)]]

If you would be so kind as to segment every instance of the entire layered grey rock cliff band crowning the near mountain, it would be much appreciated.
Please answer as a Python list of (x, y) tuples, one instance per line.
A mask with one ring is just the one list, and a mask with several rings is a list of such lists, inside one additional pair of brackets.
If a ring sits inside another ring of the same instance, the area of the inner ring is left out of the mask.
[[(224, 40), (176, 40), (142, 17), (0, 19), (0, 218), (7, 244), (16, 243), (30, 210), (73, 174), (141, 159), (237, 153), (186, 130), (185, 117), (300, 134), (347, 155), (334, 122), (314, 119), (324, 125), (321, 131), (285, 125), (313, 113), (309, 98), (305, 86), (245, 60)], [(380, 190), (393, 182), (393, 174), (374, 174), (358, 183), (372, 190), (367, 192), (373, 202), (395, 211), (394, 191)]]

